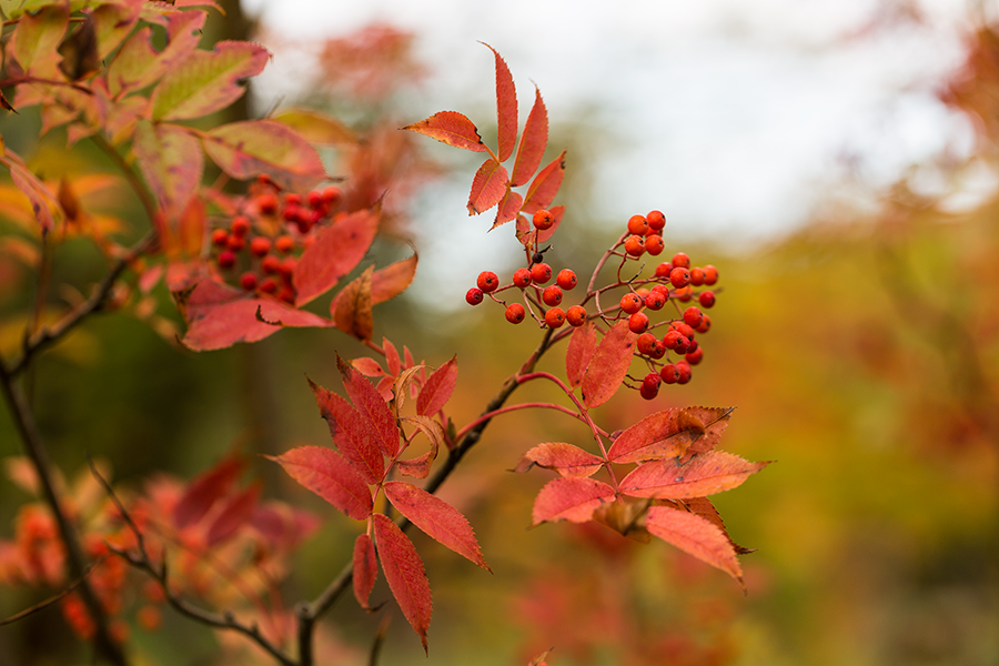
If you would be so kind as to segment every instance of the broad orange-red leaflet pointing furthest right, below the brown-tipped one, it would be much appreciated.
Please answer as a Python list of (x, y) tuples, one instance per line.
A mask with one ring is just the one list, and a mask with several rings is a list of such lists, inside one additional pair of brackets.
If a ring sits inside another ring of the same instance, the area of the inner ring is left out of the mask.
[(653, 461), (636, 467), (620, 482), (620, 492), (632, 497), (686, 500), (705, 497), (741, 485), (770, 462), (750, 463), (739, 456), (713, 451), (680, 465), (676, 458)]

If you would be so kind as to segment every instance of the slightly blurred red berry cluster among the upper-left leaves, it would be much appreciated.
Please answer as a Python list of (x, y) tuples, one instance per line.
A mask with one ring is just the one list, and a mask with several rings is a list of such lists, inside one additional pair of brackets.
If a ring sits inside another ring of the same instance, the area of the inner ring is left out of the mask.
[(295, 302), (292, 274), (297, 254), (314, 239), (314, 229), (337, 212), (343, 192), (336, 185), (306, 195), (281, 194), (262, 176), (241, 214), (212, 231), (218, 266), (248, 292)]

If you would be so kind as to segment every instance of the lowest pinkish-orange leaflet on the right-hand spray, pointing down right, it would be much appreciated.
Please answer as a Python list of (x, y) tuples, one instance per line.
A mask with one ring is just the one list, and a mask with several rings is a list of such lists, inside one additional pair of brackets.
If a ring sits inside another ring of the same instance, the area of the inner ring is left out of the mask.
[[(743, 567), (728, 537), (707, 519), (668, 506), (648, 509), (649, 534), (717, 567), (743, 585)], [(745, 589), (745, 586), (744, 586)]]

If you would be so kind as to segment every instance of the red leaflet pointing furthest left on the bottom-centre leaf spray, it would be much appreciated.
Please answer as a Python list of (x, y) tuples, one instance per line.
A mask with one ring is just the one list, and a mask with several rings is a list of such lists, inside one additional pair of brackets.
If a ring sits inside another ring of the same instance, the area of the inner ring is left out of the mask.
[(371, 515), (371, 491), (354, 467), (332, 448), (299, 446), (281, 455), (264, 456), (284, 467), (289, 476), (347, 516), (363, 521)]

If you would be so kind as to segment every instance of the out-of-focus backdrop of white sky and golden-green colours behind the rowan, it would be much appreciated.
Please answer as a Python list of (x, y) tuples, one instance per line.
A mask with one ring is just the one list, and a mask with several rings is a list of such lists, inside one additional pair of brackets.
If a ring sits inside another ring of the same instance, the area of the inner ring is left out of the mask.
[[(516, 268), (518, 244), (512, 230), (486, 233), (488, 221), (466, 216), (474, 159), (398, 139), (395, 128), (454, 109), (492, 135), (492, 53), (478, 40), (509, 63), (522, 119), (531, 81), (541, 88), (547, 159), (568, 149), (558, 200), (567, 218), (549, 263), (588, 274), (630, 214), (660, 209), (667, 253), (722, 275), (694, 381), (664, 387), (654, 404), (625, 392), (602, 410), (605, 427), (667, 405), (735, 405), (724, 447), (777, 461), (717, 497), (734, 538), (758, 548), (743, 558), (743, 596), (662, 544), (565, 525), (528, 531), (546, 476), (507, 470), (538, 442), (586, 433), (547, 413), (495, 422), (442, 491), (471, 518), (494, 575), (416, 537), (434, 589), (430, 657), (396, 617), (383, 663), (523, 664), (551, 647), (549, 663), (581, 666), (999, 663), (997, 8), (673, 4), (255, 0), (242, 27), (230, 8), (225, 29), (251, 30), (274, 52), (250, 112), (331, 111), (373, 147), (367, 157), (329, 150), (333, 171), (369, 160), (373, 181), (393, 179), (395, 240), (377, 252), (412, 239), (421, 268), (403, 297), (376, 311), (375, 334), (432, 365), (457, 354), (457, 422), (534, 346), (498, 307), (473, 311), (462, 299), (478, 271)], [(3, 122), (22, 123), (13, 127), (27, 138), (37, 121), (26, 115)], [(50, 171), (94, 160), (67, 163), (63, 145), (56, 137), (29, 148)], [(10, 345), (10, 313), (31, 286), (9, 264), (0, 270)], [(100, 274), (97, 253), (80, 245), (56, 279), (85, 285)], [(336, 385), (334, 351), (363, 353), (343, 335), (303, 330), (193, 354), (147, 322), (109, 315), (47, 354), (32, 392), (68, 475), (88, 451), (111, 462), (118, 483), (139, 485), (158, 471), (191, 477), (233, 448), (325, 443), (303, 375)], [(546, 366), (561, 367), (554, 356)], [(0, 455), (20, 453), (7, 414), (0, 436)], [(275, 467), (253, 463), (266, 494), (325, 521), (287, 586), (287, 598), (312, 596), (349, 559), (356, 526)], [(26, 501), (0, 484), (0, 535)], [(0, 609), (42, 596), (4, 588)], [(329, 663), (363, 663), (380, 619), (344, 599), (327, 623)], [(0, 628), (0, 654), (16, 664), (81, 658), (51, 639), (61, 622), (39, 614)], [(169, 613), (159, 632), (137, 627), (133, 637), (149, 664), (228, 658), (208, 630)]]

